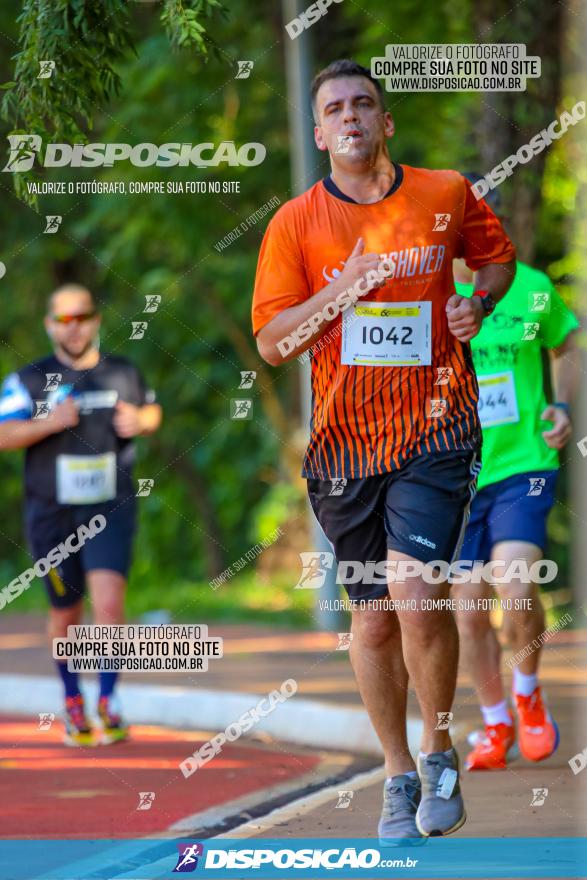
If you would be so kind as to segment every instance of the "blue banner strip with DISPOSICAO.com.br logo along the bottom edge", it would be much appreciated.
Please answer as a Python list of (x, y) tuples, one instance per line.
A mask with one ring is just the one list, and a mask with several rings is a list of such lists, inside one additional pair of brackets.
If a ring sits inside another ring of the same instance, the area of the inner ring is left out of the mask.
[(587, 838), (4, 840), (2, 880), (241, 878), (587, 878)]

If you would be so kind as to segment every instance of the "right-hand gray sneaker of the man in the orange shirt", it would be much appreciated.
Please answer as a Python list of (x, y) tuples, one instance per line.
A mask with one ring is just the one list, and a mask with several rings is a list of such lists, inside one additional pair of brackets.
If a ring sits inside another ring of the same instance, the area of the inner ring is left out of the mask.
[(418, 775), (422, 781), (422, 799), (416, 814), (418, 831), (426, 837), (452, 834), (467, 818), (457, 753), (451, 749), (448, 754), (418, 755)]

